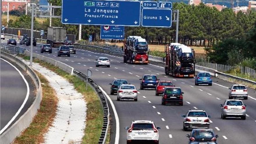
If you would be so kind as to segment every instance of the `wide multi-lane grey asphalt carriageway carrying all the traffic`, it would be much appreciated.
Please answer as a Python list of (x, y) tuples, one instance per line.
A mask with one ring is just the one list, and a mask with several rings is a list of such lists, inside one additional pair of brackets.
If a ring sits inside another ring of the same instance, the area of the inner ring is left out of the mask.
[[(29, 49), (29, 47), (25, 47)], [(228, 99), (228, 88), (232, 83), (213, 78), (212, 86), (195, 86), (194, 79), (181, 79), (166, 76), (162, 65), (131, 65), (123, 63), (122, 56), (110, 56), (85, 50), (77, 50), (77, 54), (71, 57), (57, 57), (57, 48), (53, 53), (42, 55), (56, 59), (74, 67), (86, 74), (86, 70), (92, 70), (92, 79), (95, 80), (111, 97), (120, 120), (120, 144), (126, 143), (126, 126), (130, 126), (133, 120), (153, 120), (157, 127), (161, 127), (161, 144), (183, 144), (188, 142), (186, 134), (190, 131), (182, 130), (183, 114), (189, 109), (203, 109), (211, 115), (210, 127), (219, 135), (218, 143), (223, 144), (255, 144), (256, 136), (256, 90), (248, 88), (248, 100), (243, 100), (247, 105), (246, 120), (221, 119), (221, 107), (225, 99)], [(40, 54), (40, 45), (33, 49)], [(111, 67), (95, 67), (95, 59), (99, 56), (109, 57)], [(181, 87), (184, 92), (184, 106), (161, 105), (161, 96), (155, 96), (154, 90), (139, 90), (138, 102), (117, 101), (116, 95), (110, 95), (111, 81), (114, 79), (127, 79), (140, 88), (140, 78), (143, 74), (156, 74), (160, 80), (171, 80), (175, 86)]]

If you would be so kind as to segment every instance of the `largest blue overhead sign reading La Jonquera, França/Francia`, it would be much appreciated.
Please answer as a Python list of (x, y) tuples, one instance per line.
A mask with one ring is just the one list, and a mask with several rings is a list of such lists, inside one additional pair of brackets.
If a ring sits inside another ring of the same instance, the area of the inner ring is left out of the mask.
[(62, 0), (63, 24), (140, 26), (140, 1)]

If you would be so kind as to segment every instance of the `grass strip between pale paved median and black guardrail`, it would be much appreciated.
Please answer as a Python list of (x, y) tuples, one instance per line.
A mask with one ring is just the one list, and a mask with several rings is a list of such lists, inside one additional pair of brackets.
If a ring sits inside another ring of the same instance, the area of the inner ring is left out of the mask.
[[(22, 56), (24, 59), (29, 60), (30, 57)], [(82, 138), (83, 144), (97, 144), (99, 141), (99, 137), (102, 131), (103, 125), (103, 108), (101, 105), (101, 101), (95, 93), (95, 91), (88, 86), (86, 90), (86, 83), (84, 83), (81, 79), (76, 76), (70, 75), (67, 72), (61, 70), (60, 68), (51, 65), (50, 63), (46, 63), (39, 59), (33, 59), (35, 63), (39, 63), (39, 65), (46, 67), (47, 69), (56, 72), (61, 77), (67, 79), (70, 83), (74, 84), (75, 89), (81, 93), (86, 100), (86, 129), (84, 130), (85, 135)], [(108, 132), (110, 135), (110, 131)], [(110, 136), (107, 137), (107, 142), (109, 142)]]

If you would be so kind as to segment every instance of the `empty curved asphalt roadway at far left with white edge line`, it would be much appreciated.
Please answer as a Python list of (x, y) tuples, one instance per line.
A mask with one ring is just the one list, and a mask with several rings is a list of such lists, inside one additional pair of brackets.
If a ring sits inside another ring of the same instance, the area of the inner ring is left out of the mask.
[(1, 58), (1, 132), (31, 106), (33, 90), (33, 82), (26, 72)]

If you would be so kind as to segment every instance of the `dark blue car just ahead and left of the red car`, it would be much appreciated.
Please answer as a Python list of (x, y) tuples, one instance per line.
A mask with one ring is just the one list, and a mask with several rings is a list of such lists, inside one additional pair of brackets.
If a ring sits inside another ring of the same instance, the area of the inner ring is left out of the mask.
[(156, 89), (159, 79), (154, 74), (144, 74), (141, 80), (141, 90), (144, 88)]

